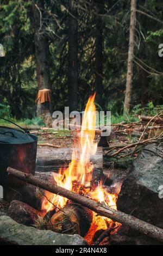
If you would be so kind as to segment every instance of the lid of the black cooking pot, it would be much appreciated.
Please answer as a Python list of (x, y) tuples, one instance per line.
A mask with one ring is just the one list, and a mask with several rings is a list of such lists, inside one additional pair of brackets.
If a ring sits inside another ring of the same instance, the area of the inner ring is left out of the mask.
[(0, 143), (21, 144), (34, 142), (29, 133), (11, 127), (0, 126)]

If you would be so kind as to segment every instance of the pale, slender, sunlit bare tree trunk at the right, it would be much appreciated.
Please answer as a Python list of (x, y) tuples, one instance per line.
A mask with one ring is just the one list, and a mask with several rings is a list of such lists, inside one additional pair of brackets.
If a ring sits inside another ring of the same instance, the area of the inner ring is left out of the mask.
[(132, 96), (135, 23), (136, 23), (136, 0), (131, 0), (130, 35), (129, 35), (129, 49), (128, 49), (126, 94), (125, 94), (125, 100), (124, 100), (124, 113), (127, 113), (130, 109), (131, 96)]

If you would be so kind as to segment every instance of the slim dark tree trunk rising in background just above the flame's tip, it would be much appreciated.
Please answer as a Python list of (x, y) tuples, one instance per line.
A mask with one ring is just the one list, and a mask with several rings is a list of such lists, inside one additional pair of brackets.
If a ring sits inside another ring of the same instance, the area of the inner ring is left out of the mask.
[(96, 0), (96, 49), (95, 49), (95, 90), (96, 102), (99, 106), (103, 106), (103, 21), (98, 16), (103, 13), (104, 1)]

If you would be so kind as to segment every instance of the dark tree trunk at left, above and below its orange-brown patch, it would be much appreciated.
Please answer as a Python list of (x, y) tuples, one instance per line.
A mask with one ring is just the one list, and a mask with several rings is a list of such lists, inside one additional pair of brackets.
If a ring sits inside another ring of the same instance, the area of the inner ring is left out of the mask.
[[(36, 0), (33, 5), (34, 16), (34, 40), (35, 40), (35, 56), (36, 56), (36, 74), (38, 89), (51, 89), (49, 74), (49, 43), (43, 27), (42, 17), (44, 8), (43, 0)], [(37, 103), (37, 117), (46, 118), (51, 116), (50, 102)]]

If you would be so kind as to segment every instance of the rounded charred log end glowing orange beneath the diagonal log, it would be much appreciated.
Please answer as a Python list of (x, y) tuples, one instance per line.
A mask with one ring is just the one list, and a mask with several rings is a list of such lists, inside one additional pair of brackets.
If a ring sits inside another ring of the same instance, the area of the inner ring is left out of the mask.
[(54, 231), (85, 236), (89, 231), (93, 213), (80, 204), (66, 204), (51, 218)]

